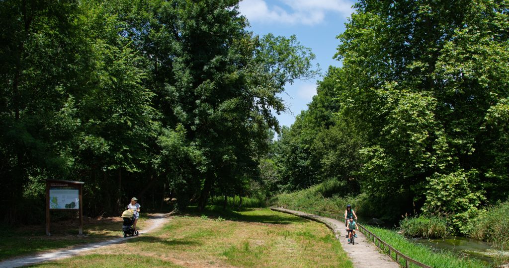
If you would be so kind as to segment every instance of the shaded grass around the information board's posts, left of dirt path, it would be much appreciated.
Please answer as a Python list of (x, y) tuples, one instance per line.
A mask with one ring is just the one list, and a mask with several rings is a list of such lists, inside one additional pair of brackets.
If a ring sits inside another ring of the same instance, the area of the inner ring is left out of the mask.
[[(143, 229), (146, 216), (140, 217), (136, 227)], [(51, 236), (47, 236), (46, 225), (2, 226), (0, 260), (122, 237), (120, 217), (83, 219), (83, 235), (78, 235), (78, 227), (77, 220), (52, 222)]]

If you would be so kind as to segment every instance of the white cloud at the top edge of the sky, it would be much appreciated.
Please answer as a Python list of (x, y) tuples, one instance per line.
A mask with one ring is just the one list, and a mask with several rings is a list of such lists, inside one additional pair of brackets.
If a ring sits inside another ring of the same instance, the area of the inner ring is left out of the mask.
[(323, 22), (327, 12), (348, 17), (353, 11), (351, 0), (280, 1), (279, 6), (269, 7), (265, 0), (243, 0), (239, 4), (240, 12), (250, 21), (314, 25)]

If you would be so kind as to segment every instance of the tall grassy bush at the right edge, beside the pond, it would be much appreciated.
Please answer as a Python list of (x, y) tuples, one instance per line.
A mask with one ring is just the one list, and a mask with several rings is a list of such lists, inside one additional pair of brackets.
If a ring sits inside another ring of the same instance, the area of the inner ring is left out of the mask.
[(469, 221), (468, 236), (493, 243), (502, 249), (509, 249), (509, 200), (498, 205), (490, 206), (480, 211), (478, 216)]

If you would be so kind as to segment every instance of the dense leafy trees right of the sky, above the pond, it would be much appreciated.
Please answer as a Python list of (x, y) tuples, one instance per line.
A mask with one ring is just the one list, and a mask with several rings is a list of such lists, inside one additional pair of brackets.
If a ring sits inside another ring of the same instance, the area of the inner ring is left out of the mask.
[[(279, 191), (335, 178), (378, 217), (468, 219), (509, 191), (509, 2), (361, 0), (274, 145)], [(339, 194), (339, 193), (338, 193)]]

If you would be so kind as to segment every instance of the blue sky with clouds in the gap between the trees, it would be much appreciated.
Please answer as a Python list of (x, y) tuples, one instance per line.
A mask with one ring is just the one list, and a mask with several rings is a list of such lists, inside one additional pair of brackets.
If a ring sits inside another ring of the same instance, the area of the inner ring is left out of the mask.
[[(258, 35), (297, 35), (299, 42), (313, 50), (322, 74), (328, 67), (341, 66), (332, 58), (339, 41), (338, 34), (345, 31), (345, 22), (353, 12), (352, 0), (243, 0), (239, 10), (251, 24), (249, 30)], [(318, 80), (321, 80), (319, 77)], [(316, 81), (296, 81), (285, 87), (287, 94), (280, 95), (292, 113), (278, 115), (281, 126), (290, 126), (301, 110), (316, 95)]]

